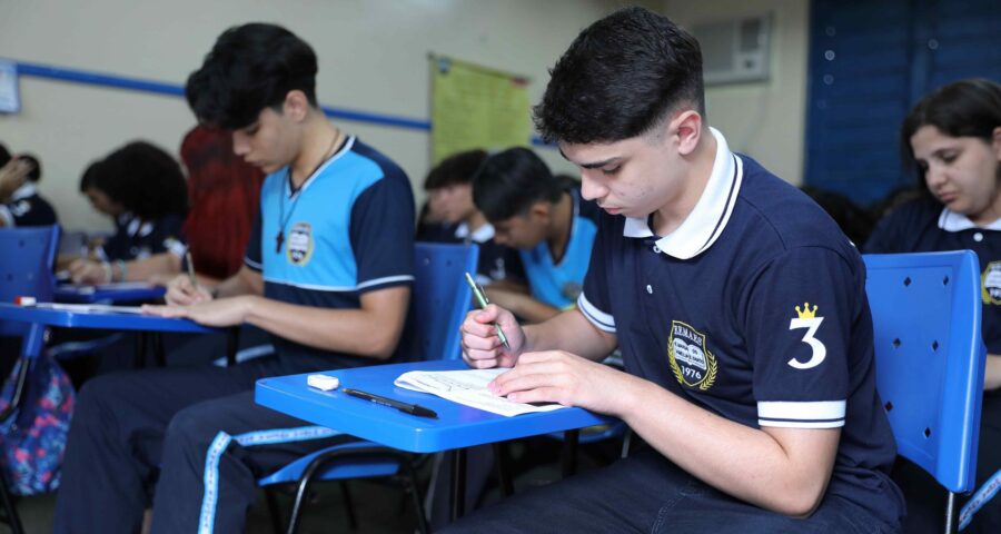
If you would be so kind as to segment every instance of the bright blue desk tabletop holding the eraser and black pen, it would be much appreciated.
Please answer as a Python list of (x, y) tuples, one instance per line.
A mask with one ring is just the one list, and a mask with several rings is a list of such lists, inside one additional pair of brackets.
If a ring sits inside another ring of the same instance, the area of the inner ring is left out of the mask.
[(396, 377), (409, 370), (464, 368), (467, 367), (462, 360), (438, 360), (323, 373), (336, 376), (340, 380), (340, 387), (357, 388), (404, 403), (417, 404), (435, 411), (438, 418), (405, 414), (395, 408), (346, 395), (339, 388), (323, 392), (309, 387), (306, 385), (306, 377), (313, 373), (257, 380), (255, 399), (257, 404), (294, 417), (414, 453), (434, 453), (616, 421), (582, 408), (505, 417), (393, 385)]

